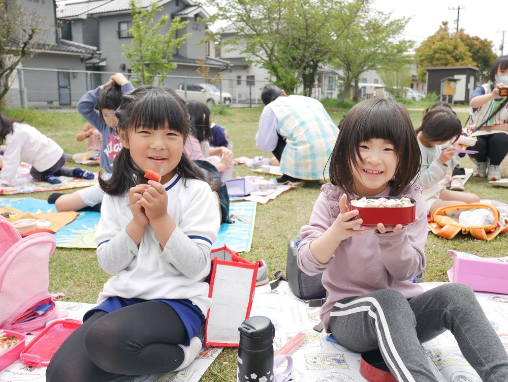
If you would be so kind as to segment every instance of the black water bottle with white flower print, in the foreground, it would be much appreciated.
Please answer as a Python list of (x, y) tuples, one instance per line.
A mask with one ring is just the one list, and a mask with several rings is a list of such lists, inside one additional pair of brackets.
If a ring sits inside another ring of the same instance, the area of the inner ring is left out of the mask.
[(273, 381), (273, 338), (275, 328), (270, 318), (253, 316), (238, 328), (237, 382)]

